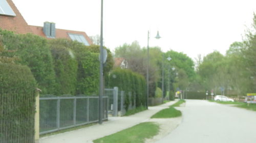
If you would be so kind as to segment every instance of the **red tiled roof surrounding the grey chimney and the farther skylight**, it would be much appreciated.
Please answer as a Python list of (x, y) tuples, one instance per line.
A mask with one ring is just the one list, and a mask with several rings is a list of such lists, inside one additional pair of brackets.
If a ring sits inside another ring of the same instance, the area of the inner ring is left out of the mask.
[[(47, 38), (44, 31), (43, 31), (43, 27), (33, 26), (33, 25), (29, 25), (29, 26), (30, 26), (33, 34)], [(56, 37), (55, 38), (70, 39), (68, 33), (83, 35), (86, 38), (86, 40), (89, 42), (90, 45), (93, 44), (92, 40), (88, 37), (88, 35), (85, 32), (79, 32), (79, 31), (61, 30), (61, 29), (56, 28)]]

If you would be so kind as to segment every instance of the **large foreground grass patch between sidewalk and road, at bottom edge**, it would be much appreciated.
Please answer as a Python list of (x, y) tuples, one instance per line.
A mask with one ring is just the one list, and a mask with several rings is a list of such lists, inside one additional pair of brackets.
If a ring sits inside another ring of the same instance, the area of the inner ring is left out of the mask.
[(94, 143), (141, 143), (145, 138), (152, 138), (159, 132), (159, 125), (154, 122), (140, 123), (120, 132), (93, 140)]

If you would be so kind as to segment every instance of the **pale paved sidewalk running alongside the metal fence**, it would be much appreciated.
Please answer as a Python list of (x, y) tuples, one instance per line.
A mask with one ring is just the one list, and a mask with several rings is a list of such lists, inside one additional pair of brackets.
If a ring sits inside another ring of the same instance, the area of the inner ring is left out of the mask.
[(148, 110), (136, 113), (128, 117), (109, 117), (108, 122), (103, 122), (102, 125), (94, 125), (75, 131), (61, 133), (49, 137), (40, 138), (40, 143), (91, 143), (92, 140), (116, 133), (126, 128), (145, 122), (150, 119), (152, 115), (161, 109), (167, 108), (176, 101), (171, 101), (159, 106), (148, 107)]

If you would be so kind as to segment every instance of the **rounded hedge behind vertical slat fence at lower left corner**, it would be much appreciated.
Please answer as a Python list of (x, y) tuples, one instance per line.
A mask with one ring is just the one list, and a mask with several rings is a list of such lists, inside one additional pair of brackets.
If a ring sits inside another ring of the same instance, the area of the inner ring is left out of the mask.
[(27, 66), (0, 67), (0, 142), (32, 143), (36, 81)]

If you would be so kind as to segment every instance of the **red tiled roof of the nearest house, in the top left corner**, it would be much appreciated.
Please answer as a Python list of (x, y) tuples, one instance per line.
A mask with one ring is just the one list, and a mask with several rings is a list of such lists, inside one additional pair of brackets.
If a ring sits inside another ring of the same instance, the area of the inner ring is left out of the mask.
[(28, 23), (11, 0), (6, 0), (16, 16), (0, 15), (0, 28), (18, 34), (32, 33)]

